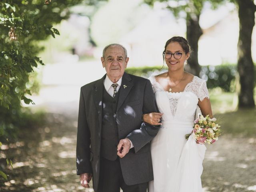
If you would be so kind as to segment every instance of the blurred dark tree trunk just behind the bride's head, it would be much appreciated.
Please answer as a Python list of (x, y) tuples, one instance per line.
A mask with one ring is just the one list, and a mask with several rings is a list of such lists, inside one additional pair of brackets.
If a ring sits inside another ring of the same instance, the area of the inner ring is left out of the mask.
[(203, 34), (202, 29), (199, 25), (200, 14), (190, 15), (187, 14), (186, 23), (187, 23), (187, 40), (192, 49), (192, 54), (188, 59), (188, 65), (185, 67), (185, 70), (199, 76), (201, 67), (198, 64), (198, 40)]

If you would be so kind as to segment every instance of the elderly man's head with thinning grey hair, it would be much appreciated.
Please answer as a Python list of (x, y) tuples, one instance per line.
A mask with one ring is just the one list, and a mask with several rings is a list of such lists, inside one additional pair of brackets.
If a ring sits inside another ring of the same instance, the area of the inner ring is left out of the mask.
[(129, 58), (125, 58), (124, 49), (120, 46), (110, 46), (101, 58), (102, 66), (106, 69), (112, 82), (118, 81), (124, 74)]

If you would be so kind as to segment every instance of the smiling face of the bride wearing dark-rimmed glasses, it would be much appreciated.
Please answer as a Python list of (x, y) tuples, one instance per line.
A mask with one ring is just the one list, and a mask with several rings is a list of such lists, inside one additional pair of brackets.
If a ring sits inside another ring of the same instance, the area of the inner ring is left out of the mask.
[(178, 42), (170, 42), (165, 50), (165, 62), (169, 70), (184, 69), (184, 63), (189, 58)]

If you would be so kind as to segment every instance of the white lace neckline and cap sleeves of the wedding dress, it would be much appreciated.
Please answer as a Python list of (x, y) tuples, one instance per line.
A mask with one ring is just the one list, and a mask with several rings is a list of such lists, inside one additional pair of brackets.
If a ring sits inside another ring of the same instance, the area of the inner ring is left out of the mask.
[[(151, 84), (152, 84), (152, 88), (154, 93), (162, 93), (164, 95), (166, 95), (168, 97), (169, 100), (169, 105), (170, 105), (170, 112), (172, 114), (172, 116), (174, 117), (176, 114), (176, 110), (177, 110), (177, 106), (179, 103), (179, 100), (182, 96), (185, 95), (186, 96), (194, 96), (194, 98), (196, 98), (197, 100), (194, 100), (196, 102), (196, 105), (198, 103), (198, 99), (200, 101), (204, 100), (204, 98), (209, 98), (209, 92), (206, 86), (206, 81), (194, 76), (192, 81), (189, 82), (184, 91), (183, 92), (167, 92), (164, 90), (164, 88), (156, 81), (156, 78), (154, 76), (151, 76), (149, 78)], [(160, 102), (160, 101), (156, 101), (156, 102)], [(190, 102), (189, 98), (186, 98), (186, 100), (184, 100), (183, 102)]]

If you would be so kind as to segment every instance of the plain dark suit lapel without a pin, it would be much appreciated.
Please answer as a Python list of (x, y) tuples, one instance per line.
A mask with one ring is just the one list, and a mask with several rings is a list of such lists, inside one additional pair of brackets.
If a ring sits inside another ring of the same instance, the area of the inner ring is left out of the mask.
[(93, 99), (94, 99), (94, 104), (96, 106), (96, 110), (98, 112), (100, 131), (102, 126), (102, 93), (103, 93), (103, 87), (104, 87), (103, 80), (105, 77), (106, 75), (104, 75), (100, 80), (96, 82), (93, 90)]

